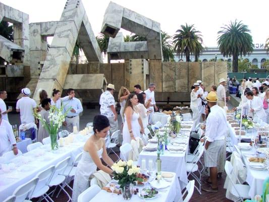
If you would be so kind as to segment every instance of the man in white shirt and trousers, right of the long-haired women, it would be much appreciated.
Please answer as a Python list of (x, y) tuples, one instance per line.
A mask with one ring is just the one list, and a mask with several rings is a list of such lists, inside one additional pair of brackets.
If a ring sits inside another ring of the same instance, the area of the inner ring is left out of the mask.
[(145, 90), (144, 93), (146, 93), (146, 100), (145, 103), (147, 101), (150, 101), (150, 107), (148, 108), (148, 111), (150, 111), (150, 113), (148, 114), (148, 123), (149, 124), (153, 124), (153, 120), (152, 120), (152, 116), (154, 114), (154, 109), (155, 111), (158, 111), (158, 108), (156, 106), (156, 102), (155, 102), (155, 97), (154, 97), (154, 89), (156, 88), (156, 85), (154, 83), (150, 83), (148, 85), (148, 89)]

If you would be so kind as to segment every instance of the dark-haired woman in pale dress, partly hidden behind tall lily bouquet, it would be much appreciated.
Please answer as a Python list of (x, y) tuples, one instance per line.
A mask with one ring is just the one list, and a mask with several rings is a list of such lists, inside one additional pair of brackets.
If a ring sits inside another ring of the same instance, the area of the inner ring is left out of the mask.
[[(47, 123), (49, 123), (48, 119), (48, 111), (49, 111), (49, 106), (50, 106), (50, 98), (44, 98), (41, 102), (41, 111), (39, 114), (41, 115), (42, 119), (45, 119)], [(41, 121), (39, 121), (39, 128), (38, 128), (38, 134), (37, 134), (37, 141), (42, 142), (42, 139), (45, 137), (48, 137), (49, 134), (45, 127), (43, 127), (43, 124)]]

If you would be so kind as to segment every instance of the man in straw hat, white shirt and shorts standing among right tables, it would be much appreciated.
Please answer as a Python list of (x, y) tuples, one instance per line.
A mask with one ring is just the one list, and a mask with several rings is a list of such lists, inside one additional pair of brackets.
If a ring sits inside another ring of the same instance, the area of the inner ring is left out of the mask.
[(227, 131), (226, 115), (224, 110), (217, 105), (218, 98), (215, 92), (209, 92), (205, 99), (210, 108), (210, 113), (207, 117), (205, 128), (204, 163), (205, 167), (210, 169), (210, 176), (206, 180), (206, 183), (210, 186), (204, 186), (202, 190), (217, 192), (217, 162), (222, 147), (225, 144)]

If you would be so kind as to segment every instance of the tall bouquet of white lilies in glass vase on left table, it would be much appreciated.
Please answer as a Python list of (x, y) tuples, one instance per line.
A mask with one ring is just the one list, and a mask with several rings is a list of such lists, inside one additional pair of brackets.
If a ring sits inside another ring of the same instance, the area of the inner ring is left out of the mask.
[(67, 113), (70, 111), (69, 109), (66, 111), (65, 114), (63, 114), (62, 113), (63, 109), (64, 106), (58, 109), (55, 105), (50, 105), (50, 109), (48, 112), (49, 123), (47, 123), (46, 120), (41, 117), (41, 114), (37, 113), (36, 109), (34, 111), (35, 118), (37, 118), (39, 121), (42, 122), (42, 126), (45, 127), (46, 131), (50, 136), (50, 144), (52, 150), (58, 149), (58, 142), (57, 142), (58, 130), (61, 128), (63, 122), (65, 121)]

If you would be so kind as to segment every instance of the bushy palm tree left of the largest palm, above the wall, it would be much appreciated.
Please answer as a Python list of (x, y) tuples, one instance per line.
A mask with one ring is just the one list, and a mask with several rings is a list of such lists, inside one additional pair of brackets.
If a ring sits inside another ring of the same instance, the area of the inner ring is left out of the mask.
[(175, 52), (177, 56), (186, 56), (186, 62), (190, 61), (190, 55), (195, 56), (195, 61), (203, 50), (201, 32), (196, 30), (194, 25), (181, 25), (181, 28), (174, 35)]

